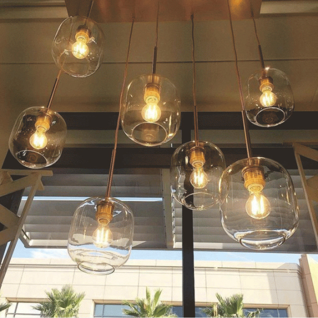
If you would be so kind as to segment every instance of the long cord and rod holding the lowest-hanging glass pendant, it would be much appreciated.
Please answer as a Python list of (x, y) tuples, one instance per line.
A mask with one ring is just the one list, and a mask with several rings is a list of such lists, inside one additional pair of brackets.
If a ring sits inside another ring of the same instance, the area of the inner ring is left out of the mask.
[(125, 85), (126, 85), (127, 69), (128, 69), (128, 58), (129, 58), (130, 43), (131, 43), (131, 36), (133, 34), (134, 22), (135, 22), (135, 19), (133, 19), (133, 21), (132, 21), (131, 29), (130, 29), (130, 35), (129, 35), (128, 50), (127, 50), (127, 57), (126, 57), (126, 65), (125, 65), (125, 72), (124, 72), (124, 80), (123, 80), (123, 85), (122, 85), (121, 92), (120, 92), (119, 114), (118, 114), (118, 118), (117, 118), (114, 149), (113, 149), (112, 154), (111, 154), (109, 177), (108, 177), (107, 189), (106, 189), (106, 195), (105, 195), (106, 199), (110, 197), (111, 184), (112, 184), (112, 181), (113, 181), (114, 165), (115, 165), (117, 142), (118, 142), (118, 131), (119, 131), (119, 125), (120, 125), (121, 104), (122, 104), (122, 99), (123, 99), (123, 95), (124, 95), (124, 89), (125, 89)]

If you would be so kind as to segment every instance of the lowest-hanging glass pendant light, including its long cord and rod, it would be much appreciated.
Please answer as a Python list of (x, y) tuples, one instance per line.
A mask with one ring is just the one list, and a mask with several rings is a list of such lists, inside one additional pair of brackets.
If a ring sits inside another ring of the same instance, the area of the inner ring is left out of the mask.
[[(122, 99), (130, 51), (132, 23), (120, 94)], [(121, 105), (121, 103), (120, 103)], [(83, 201), (75, 211), (68, 239), (68, 252), (81, 271), (90, 274), (110, 274), (129, 258), (134, 235), (134, 217), (128, 206), (111, 197), (111, 185), (116, 158), (120, 112), (115, 132), (107, 190), (105, 197)]]

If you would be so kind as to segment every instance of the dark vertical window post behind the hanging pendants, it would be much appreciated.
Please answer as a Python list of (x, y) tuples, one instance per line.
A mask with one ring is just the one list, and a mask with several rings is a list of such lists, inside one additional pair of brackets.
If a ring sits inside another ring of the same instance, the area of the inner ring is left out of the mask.
[[(191, 140), (191, 125), (183, 126), (182, 144)], [(182, 308), (183, 317), (195, 317), (193, 212), (182, 206)]]

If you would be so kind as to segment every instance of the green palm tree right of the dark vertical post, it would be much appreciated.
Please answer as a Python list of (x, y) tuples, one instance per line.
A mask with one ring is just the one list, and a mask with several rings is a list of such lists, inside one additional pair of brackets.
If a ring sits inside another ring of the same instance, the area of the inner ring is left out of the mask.
[(216, 297), (219, 301), (218, 304), (212, 304), (211, 308), (202, 309), (207, 317), (259, 317), (259, 310), (248, 312), (245, 316), (242, 294), (222, 298), (220, 294), (216, 293)]

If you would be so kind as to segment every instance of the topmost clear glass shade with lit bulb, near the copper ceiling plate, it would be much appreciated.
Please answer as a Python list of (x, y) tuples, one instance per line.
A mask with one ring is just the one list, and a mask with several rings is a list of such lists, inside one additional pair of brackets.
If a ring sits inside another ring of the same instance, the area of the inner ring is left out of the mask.
[(71, 16), (58, 28), (52, 56), (65, 73), (84, 78), (95, 73), (103, 58), (104, 34), (97, 23), (83, 16)]

